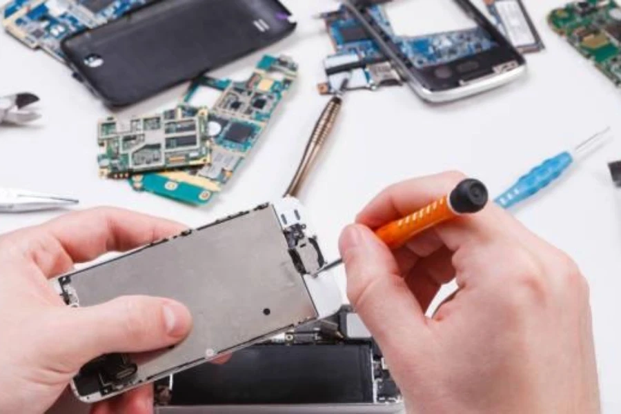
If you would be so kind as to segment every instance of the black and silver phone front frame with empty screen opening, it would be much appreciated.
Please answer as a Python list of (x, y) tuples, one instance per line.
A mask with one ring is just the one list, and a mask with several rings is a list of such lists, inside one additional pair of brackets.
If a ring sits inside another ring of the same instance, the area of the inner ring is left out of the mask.
[(520, 52), (469, 0), (346, 0), (344, 6), (426, 101), (475, 95), (525, 72)]

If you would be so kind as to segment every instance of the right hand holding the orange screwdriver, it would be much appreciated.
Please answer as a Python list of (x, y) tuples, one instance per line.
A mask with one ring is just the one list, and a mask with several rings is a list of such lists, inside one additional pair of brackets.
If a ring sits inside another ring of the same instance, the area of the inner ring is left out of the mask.
[[(348, 297), (411, 413), (596, 413), (589, 289), (569, 257), (501, 208), (391, 252), (377, 228), (446, 195), (444, 173), (384, 190), (344, 230)], [(428, 318), (440, 286), (459, 290)]]

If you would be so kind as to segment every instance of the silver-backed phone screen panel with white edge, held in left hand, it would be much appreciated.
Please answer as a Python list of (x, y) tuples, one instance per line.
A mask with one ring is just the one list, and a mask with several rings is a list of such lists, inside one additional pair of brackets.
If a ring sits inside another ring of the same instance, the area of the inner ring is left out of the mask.
[(68, 306), (152, 295), (193, 315), (177, 346), (83, 366), (75, 395), (96, 402), (333, 315), (342, 303), (335, 280), (311, 276), (324, 262), (302, 205), (286, 197), (54, 279)]

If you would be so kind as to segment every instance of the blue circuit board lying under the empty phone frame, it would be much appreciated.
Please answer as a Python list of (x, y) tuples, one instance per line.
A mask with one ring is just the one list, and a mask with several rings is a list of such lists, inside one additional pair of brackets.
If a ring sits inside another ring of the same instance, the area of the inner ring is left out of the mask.
[[(482, 28), (416, 37), (398, 36), (382, 6), (369, 6), (368, 11), (416, 68), (462, 59), (496, 46)], [(349, 90), (362, 88), (375, 90), (380, 86), (402, 83), (397, 71), (384, 57), (377, 43), (344, 6), (335, 12), (321, 14), (320, 17), (326, 23), (326, 29), (336, 50), (335, 55), (328, 56), (324, 60), (328, 81), (319, 83), (320, 93), (335, 93), (345, 78), (348, 79), (346, 88)]]

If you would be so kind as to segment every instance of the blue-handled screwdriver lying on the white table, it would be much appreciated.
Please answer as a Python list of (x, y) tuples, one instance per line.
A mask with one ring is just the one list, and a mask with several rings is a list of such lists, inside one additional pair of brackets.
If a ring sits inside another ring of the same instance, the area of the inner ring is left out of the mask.
[(511, 208), (520, 201), (539, 193), (552, 181), (558, 179), (576, 160), (588, 155), (593, 148), (602, 144), (609, 130), (610, 128), (606, 128), (598, 132), (589, 139), (582, 141), (571, 151), (561, 152), (555, 157), (546, 159), (542, 164), (520, 177), (509, 190), (498, 196), (494, 202), (502, 208)]

